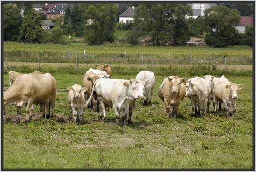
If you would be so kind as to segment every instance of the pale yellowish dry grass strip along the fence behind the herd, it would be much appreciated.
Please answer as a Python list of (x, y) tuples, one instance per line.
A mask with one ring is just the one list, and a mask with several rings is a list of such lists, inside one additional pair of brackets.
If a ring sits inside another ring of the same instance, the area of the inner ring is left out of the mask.
[[(5, 62), (3, 62), (4, 69), (6, 70)], [(127, 68), (127, 64), (110, 64), (112, 68), (119, 67)], [(39, 63), (27, 63), (27, 62), (8, 62), (8, 66), (30, 66), (30, 67), (39, 67)], [(154, 65), (154, 68), (157, 70), (157, 68), (164, 68), (164, 67), (180, 67), (180, 68), (190, 68), (193, 65)], [(40, 63), (40, 67), (76, 67), (76, 64), (72, 63)], [(133, 68), (151, 68), (151, 65), (143, 65), (143, 64), (133, 64)], [(79, 69), (89, 69), (89, 68), (95, 68), (95, 64), (78, 64)], [(239, 70), (239, 71), (253, 71), (253, 65), (218, 65), (217, 69), (223, 70)]]

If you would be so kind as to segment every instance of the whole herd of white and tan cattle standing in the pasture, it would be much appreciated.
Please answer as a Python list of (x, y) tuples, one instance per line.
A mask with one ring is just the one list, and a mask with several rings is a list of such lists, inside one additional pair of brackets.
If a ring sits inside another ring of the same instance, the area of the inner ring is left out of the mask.
[[(56, 80), (49, 73), (34, 71), (21, 74), (9, 71), (10, 87), (3, 92), (3, 108), (15, 104), (17, 122), (20, 122), (21, 107), (26, 105), (26, 122), (31, 119), (33, 104), (40, 105), (40, 112), (45, 118), (53, 117), (56, 98)], [(116, 114), (116, 123), (131, 123), (132, 111), (136, 99), (143, 99), (143, 105), (151, 104), (155, 76), (153, 72), (141, 71), (135, 79), (110, 79), (112, 70), (107, 64), (97, 64), (96, 69), (90, 68), (84, 75), (82, 86), (69, 86), (68, 101), (69, 119), (79, 122), (83, 119), (86, 107), (100, 111), (99, 118), (106, 119), (106, 108), (112, 106)], [(221, 104), (225, 105), (227, 116), (236, 111), (238, 90), (243, 85), (230, 82), (225, 76), (217, 78), (206, 75), (190, 78), (187, 81), (178, 76), (167, 76), (159, 86), (158, 95), (164, 101), (168, 116), (176, 117), (179, 105), (187, 96), (191, 100), (192, 113), (203, 116), (209, 112), (210, 100), (213, 99), (214, 112)], [(87, 101), (85, 102), (85, 100)], [(231, 106), (233, 110), (231, 110)], [(172, 107), (172, 113), (171, 113)], [(46, 110), (46, 112), (45, 112)], [(124, 115), (120, 121), (120, 111)], [(127, 121), (128, 116), (128, 121)]]

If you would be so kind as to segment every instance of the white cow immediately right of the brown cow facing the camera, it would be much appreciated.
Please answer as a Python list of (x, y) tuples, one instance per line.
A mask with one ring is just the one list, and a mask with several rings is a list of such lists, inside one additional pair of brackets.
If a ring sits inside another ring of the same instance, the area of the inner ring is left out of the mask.
[(191, 99), (192, 113), (198, 113), (200, 117), (204, 116), (205, 107), (207, 106), (208, 97), (210, 95), (211, 89), (205, 79), (200, 77), (195, 77), (187, 80), (186, 83), (186, 96)]

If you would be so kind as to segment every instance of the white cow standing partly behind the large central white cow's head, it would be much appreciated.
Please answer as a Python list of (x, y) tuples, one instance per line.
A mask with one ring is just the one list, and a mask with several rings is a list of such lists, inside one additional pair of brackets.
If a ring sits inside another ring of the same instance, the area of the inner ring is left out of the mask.
[(135, 77), (135, 80), (143, 83), (144, 90), (144, 100), (143, 105), (151, 104), (151, 96), (153, 93), (153, 88), (155, 85), (155, 75), (151, 71), (140, 71), (137, 76)]

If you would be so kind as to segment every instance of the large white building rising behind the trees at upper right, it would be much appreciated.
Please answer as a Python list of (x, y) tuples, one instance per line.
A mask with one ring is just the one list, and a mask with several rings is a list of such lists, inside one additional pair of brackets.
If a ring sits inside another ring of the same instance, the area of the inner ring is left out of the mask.
[(191, 5), (193, 15), (186, 16), (186, 18), (193, 17), (197, 18), (198, 16), (204, 16), (204, 10), (217, 5), (216, 3), (189, 3)]

